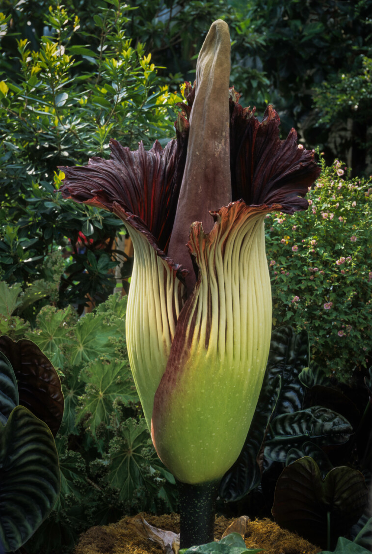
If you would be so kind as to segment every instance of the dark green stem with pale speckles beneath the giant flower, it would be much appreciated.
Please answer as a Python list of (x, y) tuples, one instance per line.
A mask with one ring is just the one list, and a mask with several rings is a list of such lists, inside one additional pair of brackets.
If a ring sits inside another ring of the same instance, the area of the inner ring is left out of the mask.
[(204, 545), (214, 539), (214, 515), (220, 480), (189, 485), (177, 481), (180, 548)]

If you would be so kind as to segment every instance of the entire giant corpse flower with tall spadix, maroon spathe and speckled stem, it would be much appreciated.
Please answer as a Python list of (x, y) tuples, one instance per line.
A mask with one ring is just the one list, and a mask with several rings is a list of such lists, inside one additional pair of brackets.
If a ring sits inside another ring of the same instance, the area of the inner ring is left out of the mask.
[(272, 106), (260, 123), (239, 105), (229, 76), (229, 29), (218, 20), (176, 139), (134, 152), (111, 140), (110, 160), (60, 168), (65, 198), (110, 210), (132, 238), (128, 355), (153, 443), (179, 483), (181, 547), (213, 538), (206, 506), (259, 397), (271, 336), (265, 216), (306, 209), (319, 174), (296, 131), (279, 139)]

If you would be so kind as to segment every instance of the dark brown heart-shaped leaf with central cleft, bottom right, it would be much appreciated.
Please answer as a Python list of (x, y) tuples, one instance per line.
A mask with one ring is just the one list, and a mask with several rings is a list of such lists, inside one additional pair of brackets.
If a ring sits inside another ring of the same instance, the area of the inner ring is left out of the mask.
[(368, 501), (360, 471), (334, 468), (323, 480), (316, 462), (308, 456), (283, 469), (275, 489), (272, 515), (281, 527), (296, 531), (313, 544), (327, 546), (345, 535)]

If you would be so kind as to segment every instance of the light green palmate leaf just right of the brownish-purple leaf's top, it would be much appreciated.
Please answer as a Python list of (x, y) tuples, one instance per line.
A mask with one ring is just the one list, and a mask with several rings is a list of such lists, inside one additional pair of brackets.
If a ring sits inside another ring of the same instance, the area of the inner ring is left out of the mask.
[(37, 317), (37, 331), (29, 331), (26, 337), (35, 342), (40, 350), (49, 356), (54, 367), (64, 367), (65, 357), (61, 347), (71, 346), (69, 337), (70, 326), (67, 325), (71, 317), (71, 308), (57, 310), (52, 306), (44, 306)]

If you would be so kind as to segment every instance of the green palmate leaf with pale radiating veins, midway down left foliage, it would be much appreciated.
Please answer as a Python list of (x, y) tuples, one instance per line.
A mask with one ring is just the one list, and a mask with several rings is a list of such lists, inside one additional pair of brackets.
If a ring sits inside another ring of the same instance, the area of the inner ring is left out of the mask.
[(76, 423), (89, 415), (87, 425), (93, 435), (101, 423), (110, 423), (113, 403), (117, 399), (124, 404), (138, 402), (130, 367), (125, 360), (95, 360), (81, 372), (80, 379), (87, 386), (80, 399)]

